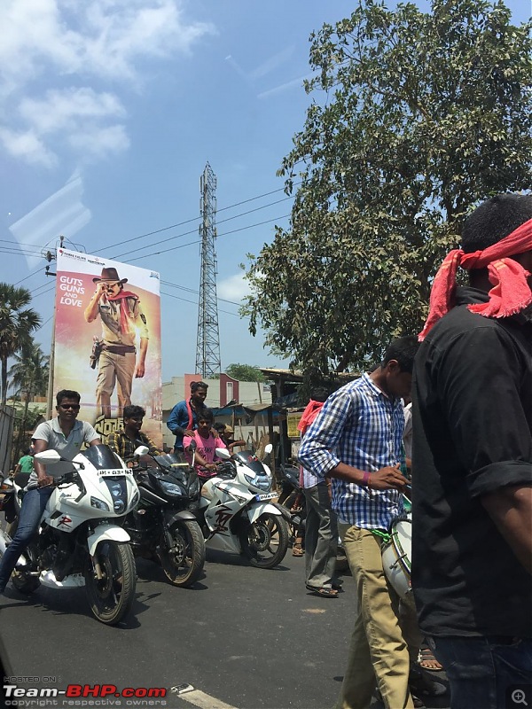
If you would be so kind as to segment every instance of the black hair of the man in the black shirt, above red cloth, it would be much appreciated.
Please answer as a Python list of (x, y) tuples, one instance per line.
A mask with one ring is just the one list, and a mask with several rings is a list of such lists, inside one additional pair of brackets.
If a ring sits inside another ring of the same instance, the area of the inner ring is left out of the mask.
[(483, 251), (497, 244), (524, 222), (532, 219), (532, 195), (497, 194), (470, 214), (462, 229), (465, 253)]

